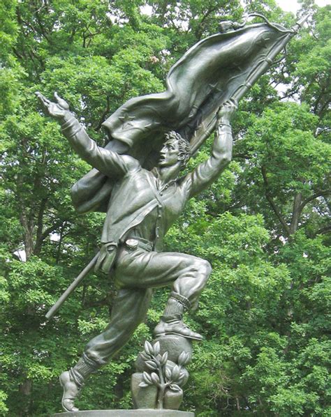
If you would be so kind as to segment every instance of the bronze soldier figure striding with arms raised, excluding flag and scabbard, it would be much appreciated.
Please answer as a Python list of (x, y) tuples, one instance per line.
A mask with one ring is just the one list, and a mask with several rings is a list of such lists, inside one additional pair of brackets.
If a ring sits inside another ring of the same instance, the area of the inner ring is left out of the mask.
[(156, 337), (175, 334), (202, 339), (182, 318), (197, 303), (212, 268), (205, 259), (161, 252), (162, 238), (186, 202), (215, 181), (230, 162), (230, 117), (237, 105), (229, 100), (219, 109), (211, 156), (189, 174), (179, 176), (190, 158), (190, 145), (177, 132), (165, 135), (159, 164), (149, 171), (135, 158), (115, 151), (116, 144), (112, 149), (98, 146), (57, 93), (56, 103), (41, 93), (37, 95), (45, 112), (61, 123), (61, 131), (78, 155), (115, 179), (97, 261), (97, 267), (110, 273), (117, 287), (110, 324), (87, 344), (78, 363), (60, 376), (62, 406), (66, 411), (78, 411), (74, 400), (84, 380), (131, 338), (145, 319), (153, 287), (172, 286), (163, 316), (154, 329)]

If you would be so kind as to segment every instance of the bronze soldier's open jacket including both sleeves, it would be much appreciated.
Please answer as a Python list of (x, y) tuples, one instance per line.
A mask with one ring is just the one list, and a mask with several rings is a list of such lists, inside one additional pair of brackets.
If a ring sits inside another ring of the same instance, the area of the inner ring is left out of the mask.
[(81, 158), (116, 180), (108, 202), (101, 242), (117, 245), (128, 231), (156, 208), (156, 251), (161, 250), (163, 236), (182, 213), (186, 202), (216, 179), (230, 162), (232, 151), (230, 128), (219, 126), (212, 156), (186, 176), (170, 181), (162, 188), (157, 168), (148, 171), (135, 158), (98, 146), (76, 119), (66, 122), (62, 132)]

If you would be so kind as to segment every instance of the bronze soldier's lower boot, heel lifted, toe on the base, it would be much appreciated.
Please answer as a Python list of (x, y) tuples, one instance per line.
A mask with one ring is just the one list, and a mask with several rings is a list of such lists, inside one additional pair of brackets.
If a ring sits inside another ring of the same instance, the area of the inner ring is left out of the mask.
[(92, 361), (85, 354), (71, 367), (70, 370), (64, 371), (60, 375), (60, 384), (64, 388), (62, 396), (62, 407), (64, 411), (79, 411), (75, 407), (75, 399), (80, 395), (85, 379), (93, 372), (96, 372), (100, 365)]

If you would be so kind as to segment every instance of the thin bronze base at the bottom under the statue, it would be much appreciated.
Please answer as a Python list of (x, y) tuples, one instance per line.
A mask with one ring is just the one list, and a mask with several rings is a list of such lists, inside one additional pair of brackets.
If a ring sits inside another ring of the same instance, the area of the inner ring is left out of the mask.
[(87, 410), (72, 413), (57, 413), (52, 417), (194, 417), (191, 411), (177, 410)]

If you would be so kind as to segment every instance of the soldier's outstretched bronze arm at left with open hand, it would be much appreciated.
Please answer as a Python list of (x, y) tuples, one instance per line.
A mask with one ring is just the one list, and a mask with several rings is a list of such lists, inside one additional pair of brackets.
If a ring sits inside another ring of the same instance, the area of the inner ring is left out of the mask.
[(119, 155), (110, 149), (98, 146), (90, 139), (84, 127), (69, 111), (68, 103), (54, 93), (56, 103), (52, 103), (41, 93), (36, 93), (46, 114), (52, 116), (61, 124), (61, 132), (68, 139), (71, 147), (92, 167), (107, 176), (124, 176), (130, 169), (138, 167), (139, 162), (131, 156)]

